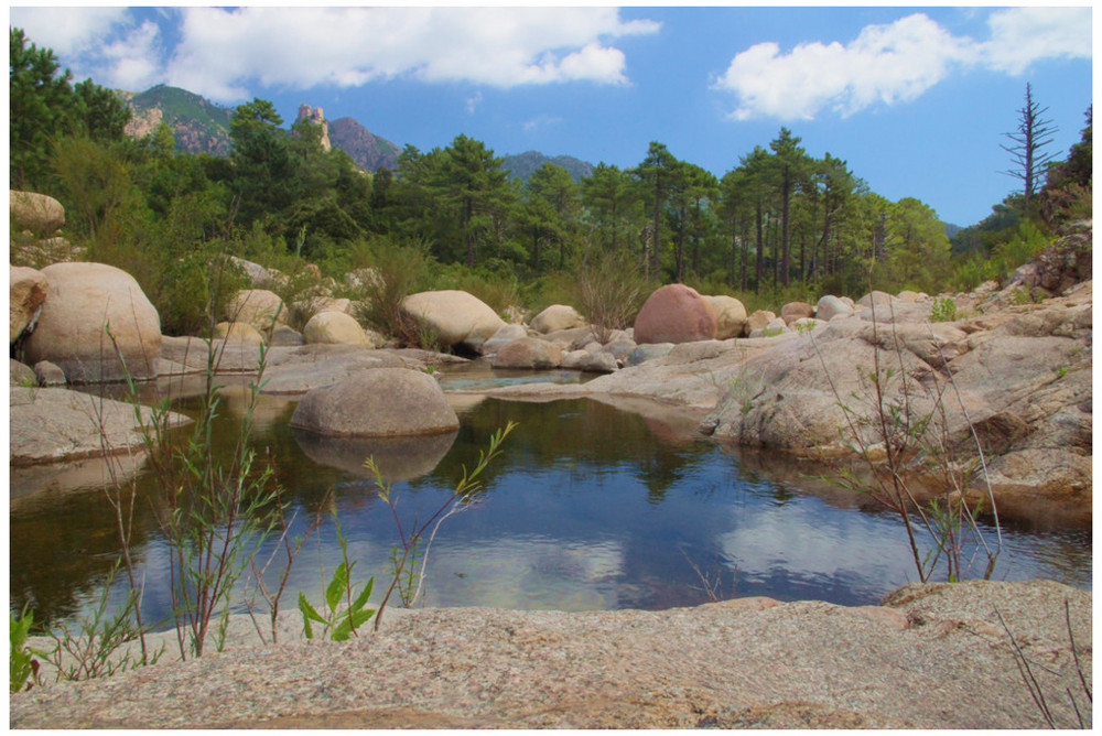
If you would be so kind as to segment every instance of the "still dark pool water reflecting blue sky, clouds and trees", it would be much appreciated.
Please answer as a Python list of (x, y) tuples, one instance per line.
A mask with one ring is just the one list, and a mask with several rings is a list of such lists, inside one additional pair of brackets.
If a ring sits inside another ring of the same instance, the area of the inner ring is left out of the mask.
[[(465, 369), (442, 380), (450, 390), (473, 390), (532, 378)], [(392, 481), (409, 529), (446, 500), (462, 467), (473, 466), (489, 435), (509, 421), (518, 427), (482, 490), (443, 523), (430, 549), (425, 605), (661, 609), (704, 603), (705, 587), (722, 597), (875, 604), (916, 578), (895, 517), (808, 479), (795, 461), (725, 451), (687, 434), (691, 422), (678, 426), (668, 416), (593, 400), (521, 403), (456, 394), (452, 402), (461, 420), (456, 434), (371, 443), (296, 433), (289, 427), (294, 402), (262, 398), (255, 445), (276, 458), (292, 534), (316, 527), (292, 567), (283, 609), (294, 607), (299, 591), (322, 598), (339, 562), (334, 512), (357, 560), (354, 578), (376, 575), (377, 587), (389, 580), (399, 535), (361, 467), (365, 457), (374, 455)], [(227, 394), (216, 446), (229, 445), (240, 403)], [(179, 402), (185, 413), (196, 408), (195, 399)], [(119, 554), (111, 509), (88, 480), (101, 472), (11, 472), (11, 608), (30, 603), (36, 620), (86, 609)], [(148, 619), (159, 619), (171, 608), (168, 550), (149, 502), (151, 479), (139, 477), (138, 487), (143, 607)], [(985, 534), (994, 543), (994, 530)], [(274, 549), (269, 543), (259, 559)], [(1091, 551), (1089, 527), (1004, 524), (995, 577), (1090, 587)], [(281, 560), (269, 570), (272, 582)], [(120, 600), (121, 591), (116, 586), (111, 598)]]

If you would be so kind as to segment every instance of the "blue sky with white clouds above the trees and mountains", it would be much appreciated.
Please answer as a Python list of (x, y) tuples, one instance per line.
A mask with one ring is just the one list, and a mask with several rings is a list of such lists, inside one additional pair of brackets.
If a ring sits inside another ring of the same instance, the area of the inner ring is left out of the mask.
[(1091, 7), (10, 8), (77, 79), (350, 116), (421, 150), (465, 133), (620, 167), (650, 141), (717, 176), (781, 126), (889, 199), (971, 225), (1019, 187), (1026, 83), (1063, 158), (1092, 104)]

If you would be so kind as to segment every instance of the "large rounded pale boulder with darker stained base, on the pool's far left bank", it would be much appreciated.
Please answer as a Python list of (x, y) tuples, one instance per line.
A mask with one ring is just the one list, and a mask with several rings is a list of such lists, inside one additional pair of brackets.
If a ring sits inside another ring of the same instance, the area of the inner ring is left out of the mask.
[(73, 383), (156, 377), (161, 320), (133, 277), (104, 263), (54, 263), (42, 274), (46, 299), (28, 362), (55, 362)]

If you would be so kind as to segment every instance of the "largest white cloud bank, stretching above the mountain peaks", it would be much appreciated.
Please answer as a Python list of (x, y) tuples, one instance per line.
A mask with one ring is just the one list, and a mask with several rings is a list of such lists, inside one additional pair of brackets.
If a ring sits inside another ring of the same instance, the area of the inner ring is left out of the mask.
[(605, 45), (657, 32), (614, 8), (183, 9), (168, 78), (219, 101), (247, 83), (295, 89), (411, 75), (496, 87), (626, 84), (626, 59)]

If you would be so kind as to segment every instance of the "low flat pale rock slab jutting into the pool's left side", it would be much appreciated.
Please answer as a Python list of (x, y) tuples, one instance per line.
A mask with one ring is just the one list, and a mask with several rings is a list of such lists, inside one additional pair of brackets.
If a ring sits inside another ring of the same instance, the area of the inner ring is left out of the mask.
[[(12, 466), (95, 457), (104, 454), (105, 445), (110, 454), (125, 453), (142, 444), (129, 403), (67, 389), (17, 386), (10, 387), (9, 399)], [(149, 411), (141, 408), (143, 422)], [(183, 414), (170, 414), (170, 426), (187, 422)]]

